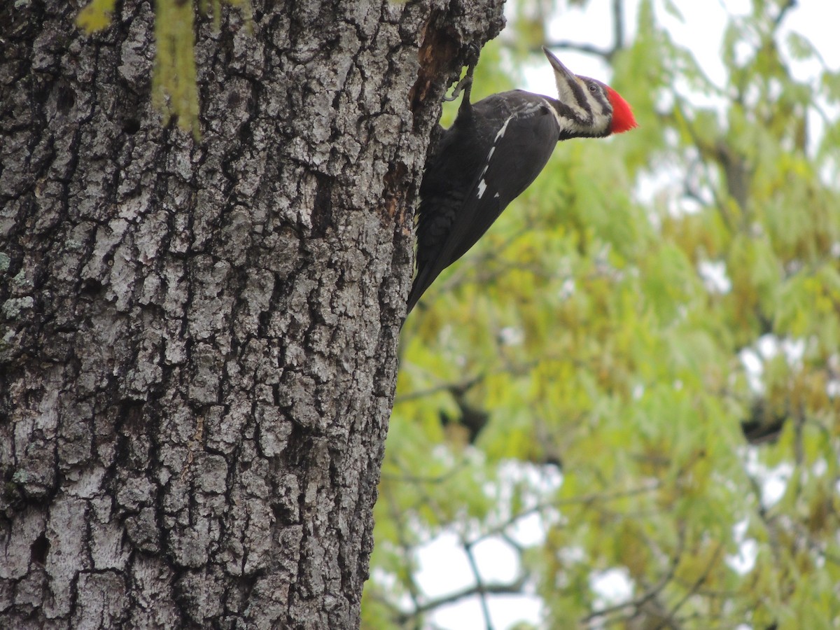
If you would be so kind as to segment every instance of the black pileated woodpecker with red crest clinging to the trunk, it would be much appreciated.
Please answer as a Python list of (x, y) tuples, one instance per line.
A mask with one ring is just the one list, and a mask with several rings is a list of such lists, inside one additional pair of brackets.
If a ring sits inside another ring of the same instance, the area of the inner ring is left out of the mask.
[(441, 271), (463, 256), (570, 138), (603, 138), (636, 126), (612, 87), (576, 76), (543, 46), (557, 98), (513, 90), (470, 103), (473, 66), (452, 127), (430, 155), (420, 185), (417, 277), (408, 312)]

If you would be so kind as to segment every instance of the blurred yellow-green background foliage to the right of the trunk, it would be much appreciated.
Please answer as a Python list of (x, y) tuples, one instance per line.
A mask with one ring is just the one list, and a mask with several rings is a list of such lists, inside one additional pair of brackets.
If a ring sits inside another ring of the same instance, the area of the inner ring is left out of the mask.
[[(840, 627), (840, 74), (797, 79), (796, 8), (753, 0), (717, 85), (663, 25), (685, 2), (605, 55), (639, 129), (559, 144), (408, 318), (363, 627), (482, 592), (538, 594), (545, 627)], [(475, 97), (564, 10), (517, 3)], [(441, 533), (517, 574), (425, 594)]]

